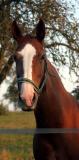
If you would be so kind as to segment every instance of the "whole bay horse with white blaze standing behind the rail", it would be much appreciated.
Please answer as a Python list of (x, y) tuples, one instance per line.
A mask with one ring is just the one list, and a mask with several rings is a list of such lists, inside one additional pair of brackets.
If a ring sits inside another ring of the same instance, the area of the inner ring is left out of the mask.
[[(34, 108), (36, 128), (79, 128), (79, 104), (68, 93), (46, 57), (44, 49), (45, 24), (36, 26), (36, 36), (22, 35), (16, 21), (12, 35), (18, 47), (14, 54), (19, 98), (27, 110)], [(79, 133), (35, 134), (35, 160), (79, 160)]]

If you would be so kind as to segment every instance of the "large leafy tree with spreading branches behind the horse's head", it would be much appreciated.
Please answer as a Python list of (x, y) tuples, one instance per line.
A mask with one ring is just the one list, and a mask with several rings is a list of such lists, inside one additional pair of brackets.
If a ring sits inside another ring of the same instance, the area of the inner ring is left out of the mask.
[(45, 48), (48, 57), (58, 67), (68, 65), (70, 71), (79, 76), (79, 23), (73, 9), (74, 6), (69, 7), (67, 3), (57, 0), (3, 0), (0, 3), (0, 83), (9, 75), (12, 54), (17, 46), (11, 34), (14, 19), (24, 33), (33, 30), (35, 35), (34, 26), (42, 17), (46, 24)]

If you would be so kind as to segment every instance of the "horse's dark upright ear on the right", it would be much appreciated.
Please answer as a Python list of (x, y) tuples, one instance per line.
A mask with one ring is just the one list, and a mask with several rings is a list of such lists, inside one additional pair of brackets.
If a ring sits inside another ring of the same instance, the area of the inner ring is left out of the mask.
[(36, 26), (36, 38), (39, 41), (42, 41), (45, 37), (45, 24), (42, 19), (39, 20), (39, 23)]

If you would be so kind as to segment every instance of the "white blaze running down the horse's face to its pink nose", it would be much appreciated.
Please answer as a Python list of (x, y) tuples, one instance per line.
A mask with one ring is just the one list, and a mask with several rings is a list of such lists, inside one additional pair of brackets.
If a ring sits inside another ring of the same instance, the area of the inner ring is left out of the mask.
[[(31, 44), (26, 44), (19, 54), (23, 57), (24, 78), (32, 80), (32, 61), (36, 55), (36, 49)], [(28, 106), (32, 105), (33, 96), (33, 85), (28, 82), (23, 83), (21, 97), (26, 100)]]

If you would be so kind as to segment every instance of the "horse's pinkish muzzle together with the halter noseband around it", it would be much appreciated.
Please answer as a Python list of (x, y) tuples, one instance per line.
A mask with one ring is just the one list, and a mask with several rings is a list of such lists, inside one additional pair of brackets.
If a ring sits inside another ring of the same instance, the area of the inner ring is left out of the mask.
[[(37, 105), (38, 97), (43, 90), (46, 83), (47, 74), (45, 73), (45, 79), (41, 81), (39, 87), (34, 82), (27, 78), (17, 78), (18, 86), (20, 91), (19, 106), (22, 110), (34, 110)], [(26, 107), (25, 107), (26, 106)], [(26, 109), (25, 109), (26, 108)]]

